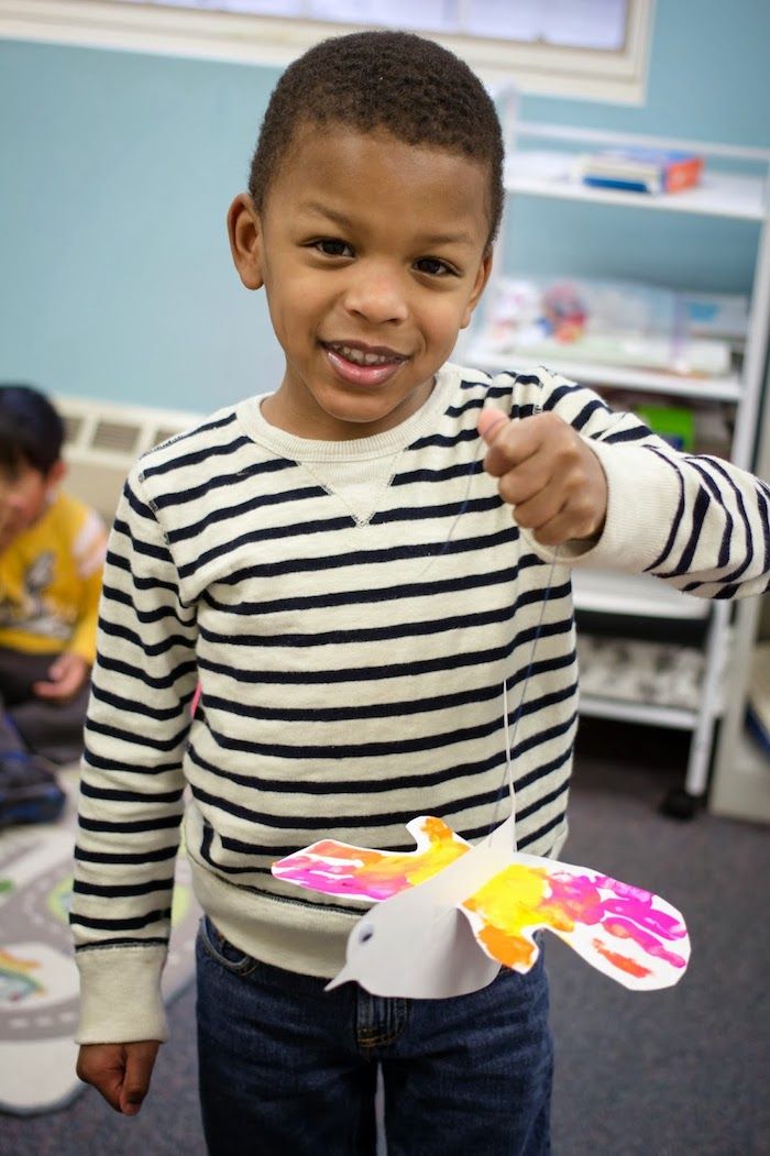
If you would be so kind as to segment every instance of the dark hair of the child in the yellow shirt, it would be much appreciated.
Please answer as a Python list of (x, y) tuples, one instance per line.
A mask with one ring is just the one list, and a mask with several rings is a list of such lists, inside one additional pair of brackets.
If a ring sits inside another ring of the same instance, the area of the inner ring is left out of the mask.
[(31, 466), (47, 475), (61, 457), (64, 422), (39, 390), (0, 385), (0, 468)]

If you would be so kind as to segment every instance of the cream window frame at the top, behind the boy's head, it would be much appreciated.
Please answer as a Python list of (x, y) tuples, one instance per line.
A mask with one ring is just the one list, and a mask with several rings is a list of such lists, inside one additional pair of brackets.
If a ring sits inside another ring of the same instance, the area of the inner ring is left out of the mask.
[[(427, 32), (461, 55), (491, 87), (521, 92), (643, 104), (654, 0), (628, 0), (617, 52), (503, 43)], [(0, 0), (0, 37), (64, 45), (283, 67), (328, 36), (364, 27), (113, 0)]]

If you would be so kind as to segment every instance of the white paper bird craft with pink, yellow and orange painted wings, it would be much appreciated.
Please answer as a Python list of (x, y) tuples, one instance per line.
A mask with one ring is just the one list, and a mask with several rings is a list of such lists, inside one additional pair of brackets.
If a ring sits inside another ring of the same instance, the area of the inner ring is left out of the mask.
[(475, 846), (440, 818), (413, 818), (407, 830), (417, 844), (408, 853), (320, 839), (273, 865), (299, 887), (379, 902), (350, 932), (327, 990), (357, 980), (373, 995), (462, 995), (501, 964), (528, 971), (539, 928), (634, 991), (684, 973), (690, 943), (675, 907), (590, 867), (513, 852), (512, 817)]

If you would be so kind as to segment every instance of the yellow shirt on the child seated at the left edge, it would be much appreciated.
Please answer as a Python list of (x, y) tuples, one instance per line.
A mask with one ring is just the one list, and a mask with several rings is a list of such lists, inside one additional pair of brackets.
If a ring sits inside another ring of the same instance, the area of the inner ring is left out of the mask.
[(0, 555), (0, 646), (92, 664), (105, 549), (98, 514), (58, 494)]

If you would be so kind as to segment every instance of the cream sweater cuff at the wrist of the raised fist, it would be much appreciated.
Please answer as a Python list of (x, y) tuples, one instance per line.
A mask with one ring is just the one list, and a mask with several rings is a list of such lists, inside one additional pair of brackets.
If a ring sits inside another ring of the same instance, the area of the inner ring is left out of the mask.
[(662, 553), (680, 503), (676, 467), (642, 446), (586, 438), (607, 479), (607, 517), (595, 542), (563, 542), (558, 550), (521, 531), (545, 562), (643, 573)]

